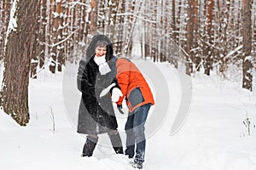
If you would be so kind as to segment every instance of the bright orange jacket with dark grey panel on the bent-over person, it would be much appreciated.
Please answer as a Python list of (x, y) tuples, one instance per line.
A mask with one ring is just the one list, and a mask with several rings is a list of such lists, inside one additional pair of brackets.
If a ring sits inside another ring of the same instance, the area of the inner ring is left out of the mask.
[(154, 105), (153, 94), (137, 66), (129, 59), (119, 58), (116, 67), (116, 78), (123, 94), (116, 104), (122, 105), (123, 99), (126, 98), (126, 104), (131, 112), (141, 105), (148, 103)]

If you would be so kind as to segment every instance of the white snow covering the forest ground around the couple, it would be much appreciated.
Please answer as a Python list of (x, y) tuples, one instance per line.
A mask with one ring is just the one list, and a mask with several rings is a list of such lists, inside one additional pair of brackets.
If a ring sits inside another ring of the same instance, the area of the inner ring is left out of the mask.
[[(152, 88), (158, 87), (147, 75), (142, 60), (134, 61), (143, 69)], [(85, 139), (76, 133), (79, 92), (76, 88), (77, 65), (67, 65), (65, 73), (52, 75), (41, 71), (30, 80), (29, 105), (31, 120), (20, 127), (0, 111), (0, 169), (99, 169), (131, 170), (126, 156), (116, 155), (107, 134), (100, 135), (94, 155), (80, 157)], [(167, 63), (156, 63), (148, 70), (160, 72), (169, 89), (161, 98), (154, 90), (156, 105), (150, 117), (163, 114), (157, 105), (167, 103), (159, 126), (147, 137), (146, 170), (254, 170), (256, 169), (256, 94), (241, 88), (240, 82), (223, 80), (196, 73), (191, 77), (191, 100), (188, 117), (180, 130), (171, 135), (174, 119), (182, 101), (182, 83), (178, 72)], [(154, 75), (158, 77), (159, 75)], [(160, 82), (161, 81), (161, 82)], [(185, 103), (186, 104), (186, 103)], [(188, 106), (187, 105), (187, 106)], [(54, 117), (54, 122), (53, 122)], [(117, 113), (119, 132), (125, 144), (126, 115)], [(249, 118), (251, 135), (243, 124)], [(152, 122), (151, 122), (152, 123)], [(150, 124), (149, 126), (151, 126)], [(146, 132), (148, 133), (148, 122)]]

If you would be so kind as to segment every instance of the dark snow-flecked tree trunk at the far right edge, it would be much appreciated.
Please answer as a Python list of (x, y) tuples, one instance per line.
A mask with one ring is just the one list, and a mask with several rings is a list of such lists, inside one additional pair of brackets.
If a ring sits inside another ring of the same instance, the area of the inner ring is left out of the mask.
[(242, 0), (242, 88), (250, 91), (253, 90), (252, 3), (253, 0)]

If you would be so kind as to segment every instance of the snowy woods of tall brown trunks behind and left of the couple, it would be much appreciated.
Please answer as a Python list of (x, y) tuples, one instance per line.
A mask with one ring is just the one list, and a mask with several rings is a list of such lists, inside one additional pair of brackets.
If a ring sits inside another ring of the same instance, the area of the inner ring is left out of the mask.
[(29, 77), (78, 62), (96, 33), (111, 39), (118, 57), (169, 61), (188, 75), (226, 78), (235, 66), (241, 87), (253, 90), (256, 0), (1, 0), (0, 27), (0, 105), (20, 125), (29, 120)]

